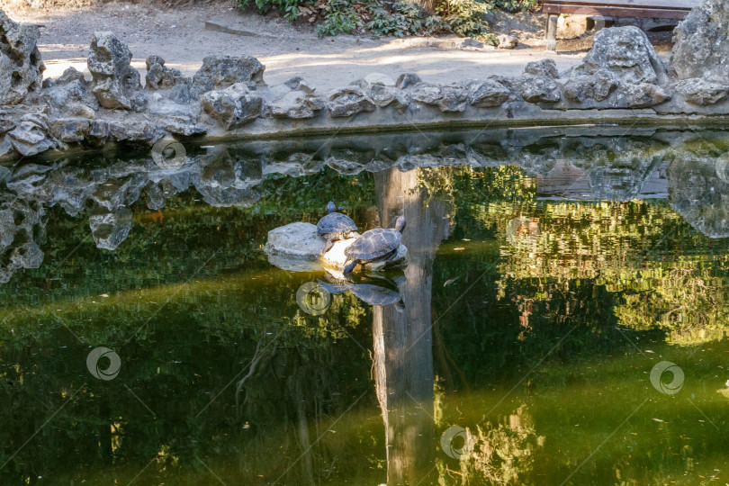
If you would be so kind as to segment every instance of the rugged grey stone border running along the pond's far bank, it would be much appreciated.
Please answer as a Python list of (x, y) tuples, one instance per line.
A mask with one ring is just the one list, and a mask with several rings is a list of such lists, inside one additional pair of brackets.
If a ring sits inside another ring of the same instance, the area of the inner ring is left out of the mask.
[(142, 87), (129, 48), (97, 32), (88, 67), (40, 86), (38, 30), (0, 12), (0, 159), (49, 150), (151, 146), (158, 139), (307, 133), (454, 122), (599, 121), (691, 115), (729, 120), (729, 14), (706, 0), (676, 34), (672, 64), (643, 31), (599, 31), (581, 65), (559, 73), (554, 61), (529, 63), (522, 76), (484, 76), (451, 85), (359, 79), (319, 93), (302, 78), (266, 85), (256, 58), (211, 56), (192, 77), (147, 59)]

